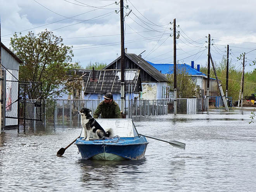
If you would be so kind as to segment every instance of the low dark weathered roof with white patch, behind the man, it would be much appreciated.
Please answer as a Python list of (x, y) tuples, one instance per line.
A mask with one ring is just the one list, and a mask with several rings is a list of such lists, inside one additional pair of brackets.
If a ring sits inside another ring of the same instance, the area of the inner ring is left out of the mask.
[[(120, 93), (121, 92), (121, 70), (105, 69), (94, 70), (95, 80), (93, 81), (93, 71), (90, 69), (72, 69), (75, 75), (82, 77), (85, 83), (85, 93)], [(126, 90), (129, 84), (133, 86), (133, 92), (139, 92), (139, 74), (138, 69), (126, 69), (125, 71)]]

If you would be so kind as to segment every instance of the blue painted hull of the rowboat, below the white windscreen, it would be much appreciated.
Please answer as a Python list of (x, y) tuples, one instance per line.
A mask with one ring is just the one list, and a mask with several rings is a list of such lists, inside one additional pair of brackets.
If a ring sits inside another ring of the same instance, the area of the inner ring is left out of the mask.
[(104, 140), (76, 140), (83, 159), (139, 160), (145, 157), (147, 140), (143, 136), (108, 138)]

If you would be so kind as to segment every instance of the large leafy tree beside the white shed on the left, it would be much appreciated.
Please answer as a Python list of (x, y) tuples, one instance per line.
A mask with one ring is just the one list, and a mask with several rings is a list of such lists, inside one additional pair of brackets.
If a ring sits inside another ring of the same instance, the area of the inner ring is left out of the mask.
[[(28, 32), (19, 36), (15, 33), (10, 40), (12, 52), (23, 63), (19, 66), (19, 80), (42, 82), (42, 97), (52, 98), (60, 93), (67, 93), (73, 88), (67, 71), (79, 68), (78, 63), (72, 63), (72, 47), (62, 43), (62, 38), (55, 36), (52, 31), (42, 31), (35, 35)], [(29, 86), (29, 99), (40, 97), (39, 89)]]

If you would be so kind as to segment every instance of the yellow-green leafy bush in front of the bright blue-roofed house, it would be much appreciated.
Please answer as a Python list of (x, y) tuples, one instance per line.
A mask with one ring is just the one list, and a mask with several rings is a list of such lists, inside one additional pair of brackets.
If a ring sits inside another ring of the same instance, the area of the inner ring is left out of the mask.
[[(200, 97), (200, 88), (184, 70), (177, 69), (177, 98)], [(168, 84), (173, 85), (173, 74), (168, 74)], [(170, 86), (171, 87), (171, 86)]]

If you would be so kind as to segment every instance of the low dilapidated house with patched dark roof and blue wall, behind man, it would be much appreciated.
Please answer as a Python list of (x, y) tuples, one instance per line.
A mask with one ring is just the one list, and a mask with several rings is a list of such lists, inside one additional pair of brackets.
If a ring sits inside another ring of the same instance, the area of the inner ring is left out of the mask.
[[(68, 99), (102, 100), (107, 92), (113, 94), (114, 100), (119, 100), (121, 98), (120, 69), (72, 69), (70, 72), (73, 74), (73, 77), (77, 77), (77, 82), (80, 83), (82, 89), (74, 90), (72, 98), (70, 97)], [(131, 95), (138, 97), (141, 91), (140, 70), (127, 69), (125, 72), (126, 99), (131, 97)], [(128, 92), (132, 94), (128, 95)]]

